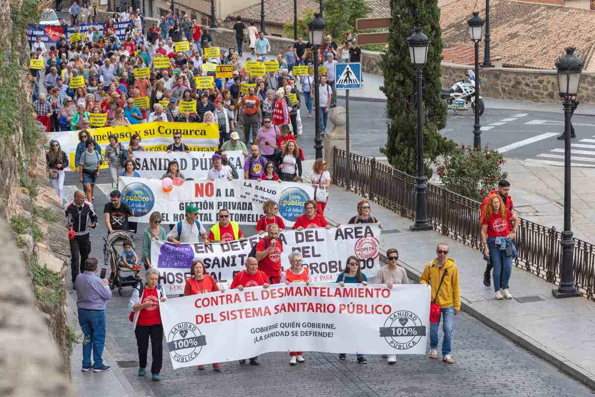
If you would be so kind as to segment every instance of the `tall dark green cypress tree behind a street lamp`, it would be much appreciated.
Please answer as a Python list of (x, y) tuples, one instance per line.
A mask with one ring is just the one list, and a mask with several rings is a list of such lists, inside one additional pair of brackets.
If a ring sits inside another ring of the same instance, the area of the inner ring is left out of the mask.
[(409, 58), (406, 37), (420, 26), (428, 36), (428, 61), (424, 65), (422, 102), (424, 106), (424, 163), (425, 174), (432, 174), (430, 164), (455, 146), (445, 140), (439, 130), (446, 126), (446, 105), (440, 98), (440, 61), (442, 38), (440, 8), (437, 0), (390, 0), (393, 23), (389, 33), (389, 48), (383, 54), (384, 86), (388, 139), (381, 151), (390, 164), (408, 174), (417, 174), (417, 106), (415, 69)]

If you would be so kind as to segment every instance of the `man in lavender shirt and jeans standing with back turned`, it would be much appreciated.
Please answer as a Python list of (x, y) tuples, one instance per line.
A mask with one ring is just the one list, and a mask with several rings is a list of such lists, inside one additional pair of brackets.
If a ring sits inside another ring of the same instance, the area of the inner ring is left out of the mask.
[[(79, 324), (83, 331), (83, 367), (82, 371), (104, 372), (109, 370), (101, 355), (105, 345), (105, 302), (111, 299), (111, 290), (107, 279), (97, 277), (97, 259), (89, 258), (84, 262), (84, 273), (79, 274), (74, 282), (79, 308)], [(93, 351), (93, 364), (91, 364)]]

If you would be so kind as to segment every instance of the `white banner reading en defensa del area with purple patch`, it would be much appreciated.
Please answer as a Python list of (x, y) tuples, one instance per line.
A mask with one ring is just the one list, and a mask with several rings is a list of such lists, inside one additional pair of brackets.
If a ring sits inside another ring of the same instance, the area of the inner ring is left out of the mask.
[[(233, 277), (245, 269), (252, 246), (261, 236), (228, 243), (181, 244), (176, 246), (161, 240), (151, 242), (151, 264), (159, 271), (159, 283), (167, 293), (183, 293), (190, 266), (195, 260), (205, 263), (206, 271), (228, 286)], [(334, 282), (345, 270), (347, 257), (355, 255), (366, 277), (375, 277), (381, 267), (383, 249), (378, 224), (350, 224), (333, 229), (285, 230), (279, 239), (283, 243), (281, 267), (290, 267), (288, 255), (302, 254), (312, 282)], [(283, 271), (283, 270), (282, 270)]]

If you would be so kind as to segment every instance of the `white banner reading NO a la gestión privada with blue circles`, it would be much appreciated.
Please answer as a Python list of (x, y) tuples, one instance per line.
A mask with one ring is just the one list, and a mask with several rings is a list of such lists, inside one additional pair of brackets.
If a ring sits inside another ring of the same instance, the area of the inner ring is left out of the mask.
[(153, 211), (161, 212), (164, 223), (177, 223), (186, 216), (186, 205), (192, 204), (198, 207), (202, 223), (214, 224), (217, 212), (227, 208), (232, 221), (255, 225), (262, 216), (262, 204), (272, 199), (286, 226), (293, 226), (304, 212), (304, 202), (314, 197), (309, 183), (257, 180), (191, 180), (165, 192), (159, 179), (120, 177), (118, 189), (136, 215), (130, 220), (143, 223), (149, 222)]

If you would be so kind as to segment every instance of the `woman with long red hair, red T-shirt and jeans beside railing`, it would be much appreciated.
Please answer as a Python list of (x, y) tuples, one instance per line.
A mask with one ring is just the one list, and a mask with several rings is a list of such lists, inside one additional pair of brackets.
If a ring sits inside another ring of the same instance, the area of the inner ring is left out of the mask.
[[(512, 232), (511, 222), (513, 223)], [(500, 195), (497, 193), (490, 195), (481, 217), (481, 241), (484, 245), (484, 255), (489, 255), (494, 267), (496, 299), (512, 299), (512, 294), (508, 291), (508, 281), (511, 278), (512, 258), (516, 252), (512, 239), (515, 238), (518, 226), (518, 217), (506, 209)], [(500, 285), (501, 271), (502, 285)]]

